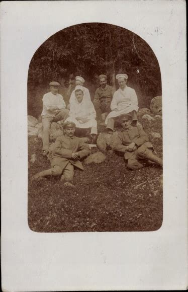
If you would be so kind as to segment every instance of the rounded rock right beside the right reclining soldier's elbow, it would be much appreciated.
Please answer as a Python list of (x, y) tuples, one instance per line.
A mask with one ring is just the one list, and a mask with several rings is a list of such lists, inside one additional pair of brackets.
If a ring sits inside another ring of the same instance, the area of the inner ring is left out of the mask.
[(97, 138), (98, 148), (103, 152), (113, 149), (114, 139), (116, 139), (117, 134), (118, 134), (117, 132), (114, 132), (113, 134), (108, 133), (99, 134)]

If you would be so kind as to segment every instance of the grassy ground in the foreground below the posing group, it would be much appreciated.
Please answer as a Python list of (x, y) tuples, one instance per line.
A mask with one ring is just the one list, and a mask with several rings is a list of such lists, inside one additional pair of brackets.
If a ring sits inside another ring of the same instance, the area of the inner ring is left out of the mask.
[[(162, 135), (162, 120), (140, 120), (146, 133)], [(162, 140), (151, 140), (162, 157)], [(48, 169), (41, 155), (42, 140), (28, 137), (28, 223), (35, 232), (155, 231), (162, 224), (162, 168), (151, 165), (127, 169), (123, 157), (108, 152), (101, 164), (75, 170), (70, 189), (59, 178), (31, 182), (36, 172)], [(92, 149), (92, 152), (99, 151)]]

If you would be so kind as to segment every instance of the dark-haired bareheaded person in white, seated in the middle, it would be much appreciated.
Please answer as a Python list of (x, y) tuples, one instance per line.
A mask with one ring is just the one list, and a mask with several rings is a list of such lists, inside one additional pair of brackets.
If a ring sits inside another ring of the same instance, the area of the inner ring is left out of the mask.
[(92, 102), (84, 96), (82, 86), (75, 87), (74, 95), (66, 121), (74, 122), (77, 128), (91, 128), (90, 134), (95, 140), (97, 136), (96, 110)]

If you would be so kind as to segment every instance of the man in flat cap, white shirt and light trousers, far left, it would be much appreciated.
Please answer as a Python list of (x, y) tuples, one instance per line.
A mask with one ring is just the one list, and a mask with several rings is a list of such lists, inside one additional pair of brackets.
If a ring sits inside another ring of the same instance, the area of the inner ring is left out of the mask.
[(58, 93), (59, 83), (56, 81), (50, 82), (50, 92), (43, 96), (43, 111), (42, 111), (42, 141), (43, 141), (43, 156), (46, 156), (50, 140), (50, 126), (52, 122), (65, 121), (69, 111), (66, 109), (66, 104), (62, 95)]

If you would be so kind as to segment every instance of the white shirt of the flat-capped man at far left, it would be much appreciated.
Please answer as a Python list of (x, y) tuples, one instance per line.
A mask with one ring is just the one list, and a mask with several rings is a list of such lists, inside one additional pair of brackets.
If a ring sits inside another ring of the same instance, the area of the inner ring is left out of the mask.
[[(54, 95), (52, 92), (48, 92), (43, 96), (42, 99), (43, 102), (43, 110), (42, 110), (42, 114), (43, 115), (50, 115), (50, 116), (55, 116), (56, 113), (61, 110), (61, 109), (65, 109), (66, 108), (66, 104), (63, 100), (63, 97), (61, 94), (57, 93), (56, 95)], [(57, 106), (58, 109), (54, 110), (54, 111), (49, 111), (51, 106)]]

